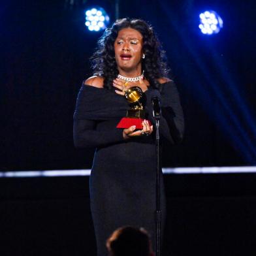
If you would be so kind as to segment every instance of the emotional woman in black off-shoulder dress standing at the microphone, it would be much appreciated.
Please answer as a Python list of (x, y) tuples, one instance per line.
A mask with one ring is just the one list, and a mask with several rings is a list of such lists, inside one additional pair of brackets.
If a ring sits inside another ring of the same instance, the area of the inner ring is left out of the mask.
[[(104, 32), (92, 59), (95, 76), (83, 83), (76, 102), (74, 144), (96, 148), (90, 199), (97, 255), (107, 255), (106, 239), (127, 225), (148, 230), (154, 247), (155, 139), (147, 120), (154, 124), (151, 99), (157, 96), (162, 105), (161, 139), (180, 142), (184, 120), (178, 91), (166, 78), (163, 51), (152, 27), (142, 20), (117, 20)], [(118, 129), (129, 109), (125, 91), (133, 86), (144, 93), (147, 120), (142, 129)], [(163, 227), (163, 177), (161, 190)]]

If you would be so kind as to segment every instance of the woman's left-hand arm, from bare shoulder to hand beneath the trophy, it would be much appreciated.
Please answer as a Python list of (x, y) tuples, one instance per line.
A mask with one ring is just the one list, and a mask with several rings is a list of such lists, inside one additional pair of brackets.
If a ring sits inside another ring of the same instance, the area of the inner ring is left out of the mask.
[[(83, 85), (80, 89), (80, 92), (78, 93), (78, 98), (76, 100), (76, 110), (74, 112), (74, 146), (78, 148), (95, 148), (121, 142), (123, 140), (129, 139), (130, 136), (138, 136), (140, 131), (135, 132), (136, 127), (133, 126), (127, 129), (113, 128), (110, 131), (97, 131), (97, 123), (99, 121), (94, 120), (93, 117), (95, 118), (95, 116), (99, 115), (99, 113), (95, 113), (95, 111), (98, 110), (98, 106), (95, 105), (95, 103), (99, 103), (99, 101), (101, 101), (102, 98), (104, 99), (105, 96), (104, 91), (102, 91), (103, 78), (93, 76), (88, 78), (84, 84), (86, 85)], [(86, 90), (84, 89), (84, 86), (87, 86)], [(96, 89), (91, 91), (91, 89), (89, 89), (90, 87)], [(97, 120), (100, 120), (99, 116)], [(149, 125), (144, 124), (143, 127), (143, 131), (150, 130)]]

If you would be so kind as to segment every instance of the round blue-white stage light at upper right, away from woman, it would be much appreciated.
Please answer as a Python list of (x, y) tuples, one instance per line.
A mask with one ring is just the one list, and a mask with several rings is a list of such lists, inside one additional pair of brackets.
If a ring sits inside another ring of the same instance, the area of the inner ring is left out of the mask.
[(223, 21), (214, 10), (206, 10), (199, 15), (199, 29), (205, 35), (217, 34), (223, 27)]

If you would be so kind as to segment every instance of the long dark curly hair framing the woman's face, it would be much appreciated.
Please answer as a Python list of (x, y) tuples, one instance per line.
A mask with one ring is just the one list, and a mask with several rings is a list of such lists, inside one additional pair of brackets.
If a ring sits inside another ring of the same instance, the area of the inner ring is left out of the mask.
[(163, 51), (157, 36), (151, 25), (133, 18), (123, 18), (116, 20), (112, 27), (106, 29), (98, 41), (96, 52), (91, 57), (93, 74), (104, 77), (104, 88), (112, 88), (112, 81), (118, 76), (116, 65), (114, 42), (121, 29), (131, 27), (140, 32), (143, 37), (142, 50), (145, 59), (142, 59), (142, 70), (144, 77), (150, 82), (153, 88), (159, 89), (158, 78), (166, 77), (168, 74), (165, 62), (165, 52)]

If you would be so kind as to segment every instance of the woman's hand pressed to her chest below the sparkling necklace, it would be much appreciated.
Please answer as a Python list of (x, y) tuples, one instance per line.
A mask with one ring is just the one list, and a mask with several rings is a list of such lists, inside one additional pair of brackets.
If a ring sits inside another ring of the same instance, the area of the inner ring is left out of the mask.
[(139, 84), (136, 82), (127, 82), (118, 78), (113, 80), (113, 86), (116, 88), (116, 93), (122, 96), (125, 95), (125, 91), (127, 91), (127, 89), (133, 86), (138, 86), (140, 87), (140, 89), (142, 89), (143, 92), (145, 92), (148, 89), (147, 84), (148, 83), (146, 82), (146, 80), (143, 79), (143, 77), (140, 78)]

